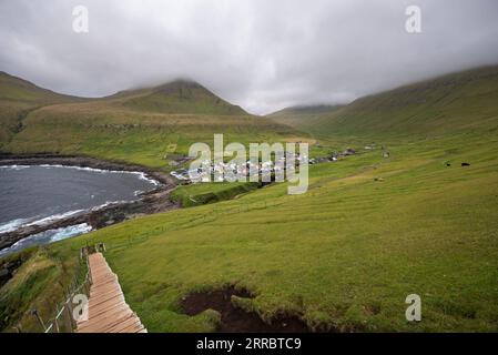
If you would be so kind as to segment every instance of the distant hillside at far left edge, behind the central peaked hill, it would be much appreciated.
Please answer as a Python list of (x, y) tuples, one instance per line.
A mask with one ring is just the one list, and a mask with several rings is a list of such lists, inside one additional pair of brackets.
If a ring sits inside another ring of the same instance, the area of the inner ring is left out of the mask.
[(0, 150), (23, 128), (23, 119), (33, 110), (79, 99), (58, 94), (33, 83), (0, 72)]

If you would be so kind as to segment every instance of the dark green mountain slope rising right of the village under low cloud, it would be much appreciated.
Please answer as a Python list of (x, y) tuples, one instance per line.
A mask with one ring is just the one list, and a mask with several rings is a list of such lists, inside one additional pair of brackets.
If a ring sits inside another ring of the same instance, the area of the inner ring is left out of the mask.
[[(335, 112), (277, 122), (324, 134), (444, 134), (494, 129), (498, 65), (453, 73), (360, 98)], [(273, 116), (272, 116), (273, 118)]]

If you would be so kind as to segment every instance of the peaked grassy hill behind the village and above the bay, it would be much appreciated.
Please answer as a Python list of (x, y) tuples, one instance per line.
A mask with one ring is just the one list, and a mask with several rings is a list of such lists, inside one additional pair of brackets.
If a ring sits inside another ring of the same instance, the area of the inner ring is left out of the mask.
[(176, 81), (31, 110), (22, 130), (1, 150), (92, 155), (165, 168), (169, 156), (186, 154), (194, 142), (212, 143), (214, 133), (241, 143), (282, 141), (301, 134), (250, 115), (200, 84)]

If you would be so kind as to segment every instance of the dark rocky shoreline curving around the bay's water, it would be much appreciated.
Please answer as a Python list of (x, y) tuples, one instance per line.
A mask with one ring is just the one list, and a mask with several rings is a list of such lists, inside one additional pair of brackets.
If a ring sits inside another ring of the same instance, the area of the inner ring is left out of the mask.
[(161, 184), (141, 199), (132, 202), (114, 203), (98, 210), (89, 210), (75, 216), (69, 216), (47, 224), (29, 225), (16, 231), (0, 234), (0, 250), (12, 246), (18, 241), (49, 230), (88, 223), (93, 230), (112, 225), (138, 215), (152, 214), (177, 209), (179, 204), (170, 200), (170, 192), (175, 189), (174, 181), (165, 173), (154, 171), (136, 164), (108, 162), (94, 158), (54, 154), (0, 154), (0, 165), (64, 165), (92, 168), (112, 171), (142, 172)]

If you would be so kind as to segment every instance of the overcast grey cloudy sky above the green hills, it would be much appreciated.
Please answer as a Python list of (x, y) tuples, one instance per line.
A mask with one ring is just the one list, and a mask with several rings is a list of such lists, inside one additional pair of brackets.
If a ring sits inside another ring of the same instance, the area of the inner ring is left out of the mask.
[(491, 63), (497, 0), (0, 0), (0, 70), (83, 97), (182, 77), (262, 114)]

